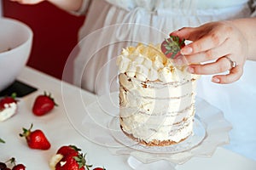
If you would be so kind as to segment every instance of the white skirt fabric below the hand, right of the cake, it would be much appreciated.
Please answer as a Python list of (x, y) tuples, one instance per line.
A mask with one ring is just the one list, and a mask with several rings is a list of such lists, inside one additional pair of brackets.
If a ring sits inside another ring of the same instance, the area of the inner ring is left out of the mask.
[[(256, 161), (256, 61), (247, 60), (241, 79), (232, 84), (216, 84), (211, 76), (202, 76), (197, 96), (224, 112), (232, 124), (227, 149)], [(207, 114), (207, 113), (206, 113)]]

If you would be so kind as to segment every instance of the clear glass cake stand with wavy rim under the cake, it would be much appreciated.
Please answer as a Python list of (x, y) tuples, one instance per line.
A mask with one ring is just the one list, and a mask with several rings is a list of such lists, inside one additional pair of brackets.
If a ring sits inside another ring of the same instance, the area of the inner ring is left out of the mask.
[[(183, 164), (194, 156), (212, 156), (218, 146), (229, 144), (230, 122), (218, 108), (206, 100), (196, 98), (194, 134), (179, 144), (152, 147), (137, 144), (122, 133), (119, 127), (119, 93), (97, 97), (96, 102), (84, 105), (84, 111), (68, 111), (73, 127), (86, 139), (101, 144), (115, 155), (129, 155), (128, 163), (137, 160), (143, 164), (168, 161)], [(82, 99), (82, 98), (81, 98)], [(82, 99), (83, 100), (83, 99)], [(71, 109), (72, 107), (70, 107)]]

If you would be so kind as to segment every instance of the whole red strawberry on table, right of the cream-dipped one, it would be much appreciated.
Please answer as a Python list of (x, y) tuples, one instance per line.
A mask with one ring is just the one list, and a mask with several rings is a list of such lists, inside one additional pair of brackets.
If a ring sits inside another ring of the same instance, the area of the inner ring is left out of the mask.
[(43, 116), (53, 110), (55, 106), (57, 106), (57, 104), (55, 104), (55, 100), (51, 98), (50, 94), (46, 94), (46, 92), (44, 92), (44, 94), (38, 95), (35, 99), (32, 112), (36, 116)]

